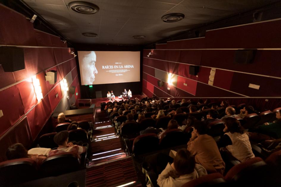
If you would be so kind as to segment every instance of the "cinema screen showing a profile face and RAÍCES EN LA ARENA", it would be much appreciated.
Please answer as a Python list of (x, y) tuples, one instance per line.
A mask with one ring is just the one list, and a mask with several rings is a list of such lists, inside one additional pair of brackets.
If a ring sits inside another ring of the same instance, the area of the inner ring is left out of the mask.
[(82, 85), (140, 81), (139, 51), (78, 51)]

